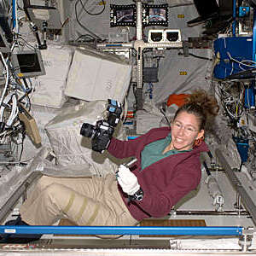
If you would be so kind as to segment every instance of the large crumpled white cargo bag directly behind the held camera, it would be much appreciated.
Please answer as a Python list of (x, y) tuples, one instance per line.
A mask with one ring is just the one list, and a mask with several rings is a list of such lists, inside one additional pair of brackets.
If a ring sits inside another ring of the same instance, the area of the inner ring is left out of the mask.
[(45, 125), (57, 165), (79, 173), (79, 169), (84, 168), (86, 174), (89, 168), (91, 174), (99, 176), (117, 170), (107, 150), (103, 154), (92, 151), (91, 138), (80, 135), (83, 123), (95, 125), (97, 120), (105, 118), (107, 106), (107, 101), (83, 102), (79, 106), (63, 109)]

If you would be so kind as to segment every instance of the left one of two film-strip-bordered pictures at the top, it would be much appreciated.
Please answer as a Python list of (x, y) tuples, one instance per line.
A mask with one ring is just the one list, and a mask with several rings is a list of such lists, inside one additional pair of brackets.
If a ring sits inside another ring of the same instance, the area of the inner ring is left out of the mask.
[(135, 4), (110, 4), (110, 26), (136, 26), (136, 20)]

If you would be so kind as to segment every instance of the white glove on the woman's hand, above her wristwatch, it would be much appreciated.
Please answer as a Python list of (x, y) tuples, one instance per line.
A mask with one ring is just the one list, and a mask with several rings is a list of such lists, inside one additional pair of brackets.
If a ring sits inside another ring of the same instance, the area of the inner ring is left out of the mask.
[(117, 180), (123, 191), (128, 195), (134, 195), (140, 189), (137, 177), (129, 170), (129, 168), (123, 165), (119, 166)]

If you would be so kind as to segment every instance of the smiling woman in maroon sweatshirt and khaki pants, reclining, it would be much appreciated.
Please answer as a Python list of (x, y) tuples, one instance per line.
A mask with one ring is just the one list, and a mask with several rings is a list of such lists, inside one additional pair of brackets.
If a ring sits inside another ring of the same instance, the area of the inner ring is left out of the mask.
[(177, 109), (171, 128), (154, 128), (130, 141), (112, 138), (108, 152), (137, 161), (117, 175), (60, 178), (43, 176), (20, 207), (17, 224), (52, 225), (68, 218), (77, 225), (136, 225), (162, 218), (201, 181), (200, 153), (207, 119), (218, 102), (195, 90)]

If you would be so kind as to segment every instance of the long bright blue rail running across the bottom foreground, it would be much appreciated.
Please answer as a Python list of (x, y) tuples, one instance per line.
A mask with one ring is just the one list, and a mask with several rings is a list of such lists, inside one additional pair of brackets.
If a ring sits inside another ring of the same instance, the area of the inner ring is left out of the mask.
[(241, 236), (242, 227), (0, 226), (0, 234)]

